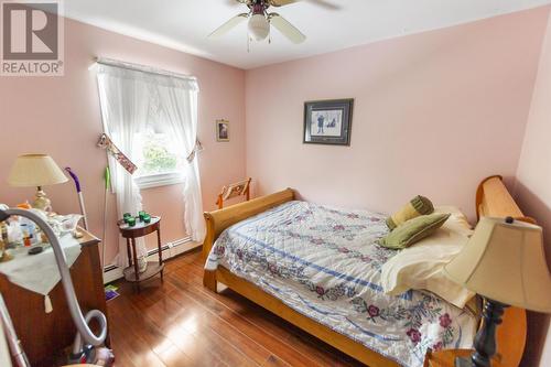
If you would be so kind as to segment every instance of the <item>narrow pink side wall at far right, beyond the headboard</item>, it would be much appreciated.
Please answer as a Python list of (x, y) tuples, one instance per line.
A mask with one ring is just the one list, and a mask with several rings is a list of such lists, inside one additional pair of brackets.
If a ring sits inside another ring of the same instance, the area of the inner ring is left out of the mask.
[[(551, 266), (551, 19), (540, 58), (538, 79), (517, 171), (517, 198), (525, 213), (543, 226)], [(550, 290), (551, 292), (551, 290)], [(551, 366), (549, 315), (529, 314), (529, 343), (523, 366)], [(547, 337), (547, 338), (545, 338)]]

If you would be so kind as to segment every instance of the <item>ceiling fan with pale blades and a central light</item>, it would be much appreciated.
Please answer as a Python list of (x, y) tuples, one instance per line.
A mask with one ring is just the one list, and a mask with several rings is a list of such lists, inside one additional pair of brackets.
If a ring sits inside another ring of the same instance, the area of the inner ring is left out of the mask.
[[(287, 36), (293, 43), (302, 43), (306, 40), (306, 36), (302, 34), (293, 24), (287, 21), (283, 17), (278, 13), (269, 12), (270, 7), (283, 7), (301, 0), (235, 0), (242, 3), (249, 8), (246, 13), (237, 14), (229, 21), (220, 25), (213, 33), (208, 35), (209, 39), (219, 39), (230, 30), (236, 28), (245, 20), (249, 20), (249, 37), (255, 41), (262, 41), (270, 34), (270, 25), (276, 26), (284, 36)], [(318, 6), (323, 6), (328, 9), (338, 9), (338, 7), (326, 2), (325, 0), (310, 0)]]

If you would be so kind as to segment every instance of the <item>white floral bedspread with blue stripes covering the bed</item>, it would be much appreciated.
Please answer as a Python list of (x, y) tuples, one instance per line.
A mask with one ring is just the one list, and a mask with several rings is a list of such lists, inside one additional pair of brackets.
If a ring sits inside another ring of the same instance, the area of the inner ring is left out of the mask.
[(227, 228), (205, 268), (222, 265), (402, 366), (422, 366), (429, 347), (472, 347), (469, 311), (431, 293), (382, 293), (380, 268), (397, 253), (375, 244), (387, 231), (381, 214), (290, 202)]

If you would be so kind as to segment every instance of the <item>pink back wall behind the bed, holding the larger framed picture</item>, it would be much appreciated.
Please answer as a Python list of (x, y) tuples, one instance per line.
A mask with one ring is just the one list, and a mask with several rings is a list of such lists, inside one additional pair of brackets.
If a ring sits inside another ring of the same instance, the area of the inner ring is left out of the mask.
[[(477, 183), (516, 174), (548, 8), (246, 74), (257, 193), (391, 212), (422, 193), (474, 215)], [(303, 102), (355, 98), (352, 145), (302, 143)]]

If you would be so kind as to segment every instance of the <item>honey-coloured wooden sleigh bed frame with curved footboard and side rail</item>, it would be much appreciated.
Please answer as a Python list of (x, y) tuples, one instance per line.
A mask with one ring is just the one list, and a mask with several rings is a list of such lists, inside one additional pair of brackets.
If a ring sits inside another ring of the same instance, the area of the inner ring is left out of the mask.
[[(224, 209), (205, 213), (207, 235), (203, 244), (204, 258), (210, 252), (210, 248), (229, 226), (247, 219), (253, 215), (266, 212), (274, 206), (295, 198), (294, 192), (287, 188), (282, 192), (268, 196), (258, 197), (249, 202), (229, 206)], [(501, 176), (485, 179), (476, 192), (477, 216), (512, 216), (522, 220), (534, 223), (533, 219), (525, 217), (511, 195), (505, 187)], [(266, 293), (257, 285), (233, 274), (224, 267), (216, 271), (205, 270), (203, 284), (209, 290), (217, 292), (217, 282), (220, 282), (242, 296), (261, 305), (291, 324), (316, 336), (323, 342), (332, 345), (341, 352), (356, 358), (357, 360), (372, 367), (395, 367), (396, 361), (374, 352), (363, 344), (355, 342), (343, 334), (336, 333), (325, 325), (302, 315), (285, 305), (279, 299)], [(526, 312), (525, 310), (509, 307), (504, 315), (504, 323), (497, 332), (498, 353), (496, 361), (499, 366), (517, 367), (522, 357), (526, 343)]]

